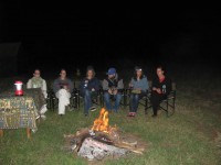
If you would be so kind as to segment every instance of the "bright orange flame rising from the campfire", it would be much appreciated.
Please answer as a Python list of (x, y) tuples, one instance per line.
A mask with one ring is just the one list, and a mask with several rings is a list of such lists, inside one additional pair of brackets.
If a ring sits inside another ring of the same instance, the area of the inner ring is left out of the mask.
[(102, 110), (99, 111), (99, 117), (97, 119), (95, 119), (92, 130), (108, 133), (108, 131), (110, 129), (108, 122), (109, 122), (108, 111), (106, 111), (104, 108), (102, 108)]

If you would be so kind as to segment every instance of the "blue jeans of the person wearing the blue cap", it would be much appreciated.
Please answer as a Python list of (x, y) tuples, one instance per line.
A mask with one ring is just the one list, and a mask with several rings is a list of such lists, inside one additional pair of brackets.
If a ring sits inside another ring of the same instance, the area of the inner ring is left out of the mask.
[[(112, 97), (115, 99), (114, 108), (112, 107), (112, 102), (110, 102)], [(107, 91), (104, 94), (104, 101), (106, 105), (106, 109), (108, 111), (114, 110), (115, 112), (117, 112), (120, 100), (122, 100), (122, 94), (109, 95)]]

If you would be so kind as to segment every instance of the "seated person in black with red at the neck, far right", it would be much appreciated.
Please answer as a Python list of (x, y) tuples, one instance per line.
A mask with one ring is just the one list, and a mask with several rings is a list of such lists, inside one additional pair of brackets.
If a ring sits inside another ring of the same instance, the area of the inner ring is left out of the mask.
[(171, 79), (165, 75), (165, 69), (161, 66), (157, 67), (157, 76), (152, 79), (152, 89), (150, 101), (152, 105), (152, 117), (157, 117), (159, 103), (167, 98), (171, 91)]

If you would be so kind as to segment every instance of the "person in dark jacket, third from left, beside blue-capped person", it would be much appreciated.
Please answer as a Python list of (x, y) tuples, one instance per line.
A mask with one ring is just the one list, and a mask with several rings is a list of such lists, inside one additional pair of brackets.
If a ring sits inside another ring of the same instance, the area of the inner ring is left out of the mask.
[(96, 96), (99, 90), (99, 80), (95, 77), (95, 70), (92, 66), (86, 69), (86, 77), (80, 82), (80, 94), (84, 98), (84, 114), (88, 116), (88, 111), (96, 110), (92, 107), (92, 97)]

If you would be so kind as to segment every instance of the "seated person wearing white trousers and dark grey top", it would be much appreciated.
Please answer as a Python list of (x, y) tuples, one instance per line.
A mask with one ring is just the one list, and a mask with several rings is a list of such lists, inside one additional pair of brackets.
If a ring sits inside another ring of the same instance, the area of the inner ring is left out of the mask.
[(59, 114), (65, 114), (65, 107), (70, 106), (73, 82), (66, 77), (66, 70), (61, 69), (60, 77), (54, 80), (53, 91), (59, 98)]

